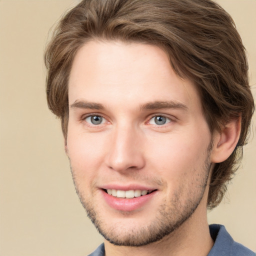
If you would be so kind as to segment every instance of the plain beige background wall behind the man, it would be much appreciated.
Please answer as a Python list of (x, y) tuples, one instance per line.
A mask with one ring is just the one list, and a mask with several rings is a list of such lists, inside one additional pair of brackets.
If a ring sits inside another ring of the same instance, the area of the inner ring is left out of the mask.
[[(44, 92), (42, 55), (48, 30), (77, 2), (0, 0), (1, 256), (86, 255), (102, 241), (75, 194), (59, 121), (48, 111)], [(233, 16), (247, 47), (255, 88), (256, 0), (219, 3)], [(208, 216), (254, 251), (255, 152), (254, 137), (225, 202)]]

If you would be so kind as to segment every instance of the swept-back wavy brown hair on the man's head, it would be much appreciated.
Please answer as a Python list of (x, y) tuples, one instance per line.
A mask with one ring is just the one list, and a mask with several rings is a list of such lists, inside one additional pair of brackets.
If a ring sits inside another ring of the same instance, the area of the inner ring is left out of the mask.
[(83, 0), (60, 20), (45, 51), (50, 110), (67, 135), (68, 77), (77, 50), (92, 40), (153, 44), (176, 74), (196, 85), (211, 132), (241, 116), (236, 148), (214, 166), (208, 207), (222, 199), (242, 155), (254, 111), (246, 51), (230, 15), (211, 0)]

